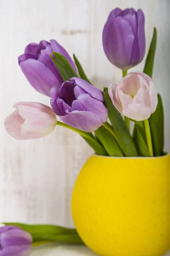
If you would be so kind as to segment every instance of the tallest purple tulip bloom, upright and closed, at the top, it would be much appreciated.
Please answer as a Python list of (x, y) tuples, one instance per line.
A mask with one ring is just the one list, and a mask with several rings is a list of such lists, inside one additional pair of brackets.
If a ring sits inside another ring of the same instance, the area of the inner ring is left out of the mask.
[(112, 10), (105, 23), (102, 40), (105, 55), (116, 67), (127, 70), (139, 64), (145, 52), (142, 10)]

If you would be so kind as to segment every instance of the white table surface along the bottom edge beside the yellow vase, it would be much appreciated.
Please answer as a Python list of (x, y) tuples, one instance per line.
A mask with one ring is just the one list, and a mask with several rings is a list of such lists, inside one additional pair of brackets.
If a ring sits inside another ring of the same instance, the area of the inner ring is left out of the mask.
[[(31, 256), (95, 256), (88, 247), (84, 245), (48, 245), (34, 248)], [(170, 256), (170, 251), (164, 256)]]

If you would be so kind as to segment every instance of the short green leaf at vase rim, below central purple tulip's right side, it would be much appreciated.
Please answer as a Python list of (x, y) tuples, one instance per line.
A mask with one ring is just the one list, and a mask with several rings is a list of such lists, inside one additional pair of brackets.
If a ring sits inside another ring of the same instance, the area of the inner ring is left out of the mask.
[(103, 126), (99, 127), (95, 134), (98, 139), (102, 143), (103, 147), (107, 151), (108, 155), (111, 157), (122, 157), (123, 153), (121, 148), (119, 147), (117, 141), (113, 137), (113, 135), (106, 130)]

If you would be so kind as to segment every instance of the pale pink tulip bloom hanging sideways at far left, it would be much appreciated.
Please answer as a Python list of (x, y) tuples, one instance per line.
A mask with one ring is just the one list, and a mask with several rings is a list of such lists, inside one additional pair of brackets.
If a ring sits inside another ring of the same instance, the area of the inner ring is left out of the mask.
[(53, 110), (38, 102), (18, 102), (16, 110), (4, 122), (6, 131), (17, 140), (29, 140), (50, 134), (57, 125)]

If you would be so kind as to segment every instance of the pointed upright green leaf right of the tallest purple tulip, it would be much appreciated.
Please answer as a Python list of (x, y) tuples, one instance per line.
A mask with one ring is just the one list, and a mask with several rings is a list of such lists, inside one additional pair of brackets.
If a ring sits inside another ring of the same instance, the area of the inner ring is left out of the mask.
[(156, 30), (156, 27), (154, 27), (153, 38), (150, 43), (150, 48), (147, 54), (144, 71), (143, 71), (145, 74), (147, 74), (150, 77), (152, 77), (152, 74), (153, 74), (153, 64), (154, 64), (154, 58), (155, 58), (155, 52), (156, 52), (156, 41), (157, 41), (157, 30)]

